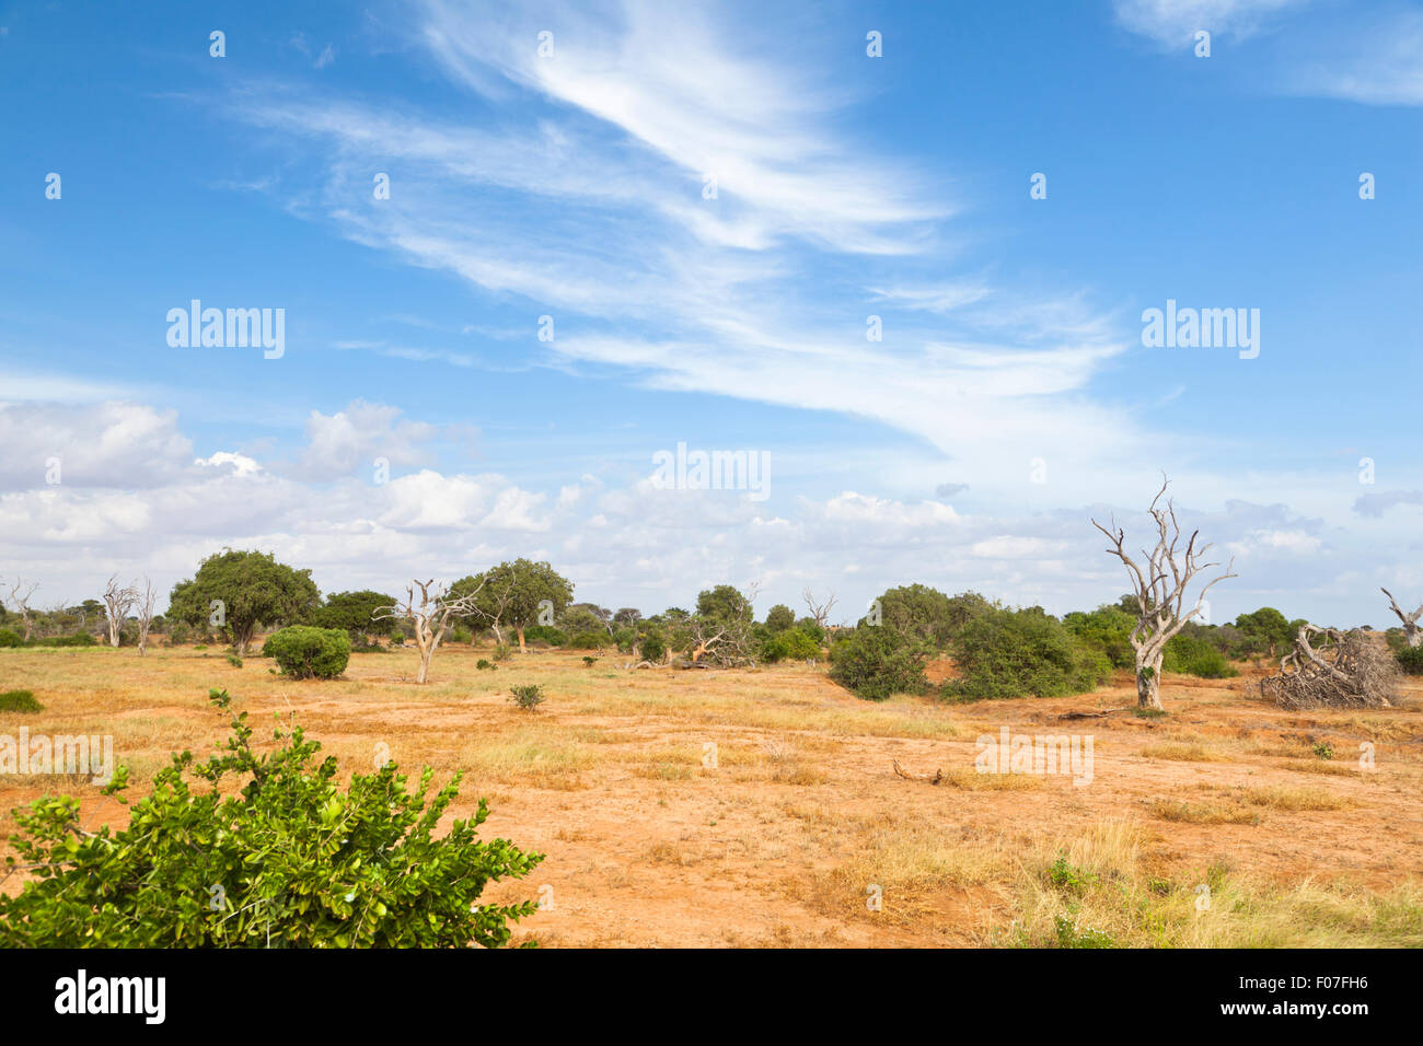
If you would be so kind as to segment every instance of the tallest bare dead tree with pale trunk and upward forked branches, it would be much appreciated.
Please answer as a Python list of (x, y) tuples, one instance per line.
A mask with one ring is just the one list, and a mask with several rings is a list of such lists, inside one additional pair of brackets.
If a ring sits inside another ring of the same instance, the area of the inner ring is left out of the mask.
[(1208, 582), (1195, 598), (1190, 611), (1185, 609), (1185, 591), (1191, 581), (1211, 566), (1220, 564), (1202, 564), (1201, 558), (1210, 551), (1210, 545), (1197, 548), (1195, 539), (1200, 531), (1192, 531), (1185, 548), (1181, 549), (1181, 525), (1175, 519), (1175, 505), (1168, 498), (1164, 508), (1158, 508), (1161, 495), (1170, 484), (1163, 477), (1161, 490), (1151, 498), (1151, 518), (1157, 527), (1155, 548), (1147, 554), (1146, 562), (1138, 564), (1126, 551), (1126, 534), (1117, 527), (1113, 518), (1109, 531), (1096, 519), (1091, 525), (1107, 535), (1111, 548), (1110, 555), (1117, 556), (1127, 568), (1131, 578), (1133, 593), (1137, 598), (1137, 623), (1131, 629), (1131, 648), (1137, 652), (1137, 706), (1143, 709), (1161, 707), (1161, 659), (1165, 656), (1165, 645), (1177, 632), (1185, 628), (1185, 622), (1201, 612), (1201, 601), (1205, 593), (1220, 581), (1237, 576), (1231, 572), (1235, 561), (1225, 566), (1225, 574)]

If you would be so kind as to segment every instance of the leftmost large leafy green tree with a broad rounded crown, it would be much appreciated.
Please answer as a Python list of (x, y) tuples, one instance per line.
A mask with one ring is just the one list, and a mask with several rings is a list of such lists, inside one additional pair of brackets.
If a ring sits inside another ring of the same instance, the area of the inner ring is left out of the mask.
[(258, 625), (305, 620), (322, 593), (310, 571), (279, 564), (269, 552), (233, 552), (208, 556), (189, 581), (174, 585), (169, 615), (195, 628), (226, 629), (238, 656)]

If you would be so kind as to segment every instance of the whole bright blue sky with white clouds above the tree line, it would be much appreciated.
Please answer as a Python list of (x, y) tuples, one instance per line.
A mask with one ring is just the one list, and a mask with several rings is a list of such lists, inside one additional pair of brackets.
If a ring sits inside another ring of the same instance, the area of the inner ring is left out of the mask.
[[(0, 4), (0, 572), (41, 601), (233, 545), (1063, 612), (1163, 470), (1217, 618), (1423, 596), (1417, 4)], [(171, 347), (194, 297), (285, 309), (285, 354)], [(1167, 299), (1258, 309), (1259, 356), (1144, 347)], [(768, 497), (656, 490), (677, 443)]]

